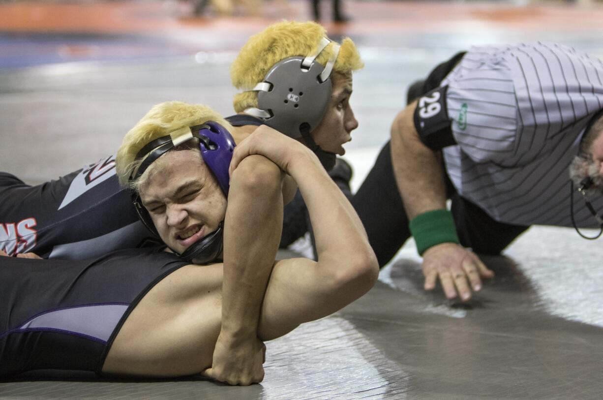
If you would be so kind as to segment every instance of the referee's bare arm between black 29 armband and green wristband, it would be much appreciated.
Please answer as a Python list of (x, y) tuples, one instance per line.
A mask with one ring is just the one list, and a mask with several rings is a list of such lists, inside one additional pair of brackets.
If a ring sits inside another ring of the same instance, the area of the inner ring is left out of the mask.
[(408, 218), (446, 208), (441, 155), (423, 144), (412, 121), (416, 101), (399, 113), (391, 127), (391, 159)]

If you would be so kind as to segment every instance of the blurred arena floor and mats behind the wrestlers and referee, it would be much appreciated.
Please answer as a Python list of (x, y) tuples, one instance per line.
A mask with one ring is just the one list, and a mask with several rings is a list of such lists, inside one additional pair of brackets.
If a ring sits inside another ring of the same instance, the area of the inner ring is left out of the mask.
[(230, 62), (281, 19), (318, 18), (364, 58), (347, 144), (355, 188), (408, 85), (455, 52), (552, 40), (603, 55), (601, 1), (338, 1), (335, 12), (332, 0), (0, 0), (0, 170), (28, 183), (77, 170), (166, 100), (230, 115)]

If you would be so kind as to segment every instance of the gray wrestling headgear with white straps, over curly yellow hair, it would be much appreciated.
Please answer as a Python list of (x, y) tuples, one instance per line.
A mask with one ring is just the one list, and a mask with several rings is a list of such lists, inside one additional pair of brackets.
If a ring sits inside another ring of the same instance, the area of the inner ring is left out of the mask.
[(310, 132), (323, 119), (333, 90), (330, 75), (339, 55), (339, 45), (333, 43), (333, 54), (324, 68), (315, 62), (330, 42), (323, 37), (313, 54), (289, 57), (276, 63), (264, 81), (248, 90), (258, 92), (259, 108), (244, 110), (293, 139), (303, 138), (327, 170), (335, 165), (335, 153), (322, 150)]

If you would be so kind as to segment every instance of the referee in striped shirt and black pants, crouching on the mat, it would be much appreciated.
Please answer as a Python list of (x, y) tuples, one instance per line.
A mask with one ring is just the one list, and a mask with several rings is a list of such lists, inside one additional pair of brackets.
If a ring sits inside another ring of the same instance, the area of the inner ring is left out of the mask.
[[(596, 57), (556, 43), (474, 47), (409, 101), (353, 198), (380, 266), (412, 235), (425, 289), (439, 278), (446, 297), (468, 300), (494, 276), (475, 253), (499, 254), (532, 224), (601, 226)], [(593, 212), (572, 182), (590, 185)]]

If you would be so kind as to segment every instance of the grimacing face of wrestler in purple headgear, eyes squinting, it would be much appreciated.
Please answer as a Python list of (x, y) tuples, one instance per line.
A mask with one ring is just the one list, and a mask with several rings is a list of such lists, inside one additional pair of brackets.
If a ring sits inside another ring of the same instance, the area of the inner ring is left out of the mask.
[(140, 186), (140, 199), (163, 243), (178, 253), (218, 228), (226, 197), (198, 150), (168, 151)]

